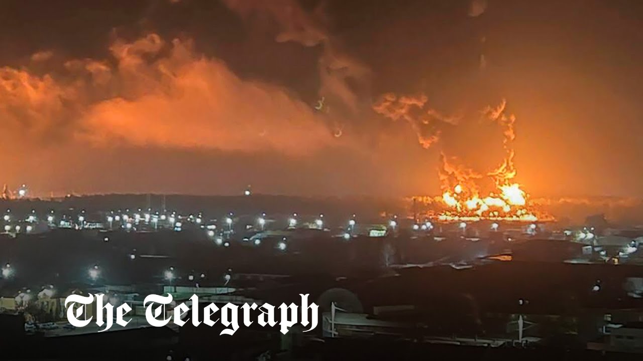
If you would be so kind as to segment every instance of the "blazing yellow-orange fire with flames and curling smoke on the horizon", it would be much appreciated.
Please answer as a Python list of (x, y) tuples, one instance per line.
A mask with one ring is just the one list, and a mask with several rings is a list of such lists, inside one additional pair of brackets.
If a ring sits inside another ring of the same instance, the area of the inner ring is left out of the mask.
[[(390, 94), (384, 96), (374, 110), (394, 121), (405, 119), (417, 132), (419, 141), (424, 148), (440, 140), (442, 129), (457, 126), (456, 121), (446, 121), (435, 110), (424, 109), (426, 97), (397, 98)], [(442, 221), (476, 221), (476, 220), (516, 220), (525, 222), (547, 221), (554, 218), (542, 213), (529, 202), (529, 194), (520, 183), (516, 182), (516, 167), (514, 166), (513, 141), (516, 138), (514, 123), (516, 118), (506, 113), (505, 100), (498, 107), (487, 107), (482, 111), (486, 121), (495, 123), (503, 131), (504, 157), (502, 162), (491, 172), (480, 174), (467, 168), (457, 157), (440, 154), (442, 166), (439, 177), (442, 196), (429, 198), (428, 202), (438, 203), (441, 210), (431, 212), (429, 218)], [(418, 114), (418, 111), (421, 110)], [(427, 136), (429, 134), (430, 136)], [(484, 193), (480, 183), (490, 179), (493, 189)]]

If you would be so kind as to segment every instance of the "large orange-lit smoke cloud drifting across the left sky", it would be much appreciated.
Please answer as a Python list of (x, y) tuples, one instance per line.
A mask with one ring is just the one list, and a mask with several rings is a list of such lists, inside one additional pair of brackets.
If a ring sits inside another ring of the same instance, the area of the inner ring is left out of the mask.
[(62, 66), (51, 51), (36, 53), (32, 61), (50, 67), (43, 74), (0, 68), (3, 132), (39, 142), (285, 154), (333, 141), (323, 114), (285, 89), (239, 78), (196, 53), (190, 40), (150, 34), (116, 40), (109, 50), (109, 59)]

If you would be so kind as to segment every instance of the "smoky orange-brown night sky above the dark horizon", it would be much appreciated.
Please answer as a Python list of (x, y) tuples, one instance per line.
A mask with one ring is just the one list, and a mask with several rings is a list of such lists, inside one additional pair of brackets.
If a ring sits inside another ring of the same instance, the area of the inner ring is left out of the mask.
[[(505, 99), (533, 197), (642, 197), (642, 43), (637, 0), (4, 0), (0, 183), (438, 194), (440, 152), (502, 161)], [(386, 93), (461, 121), (424, 148)]]

